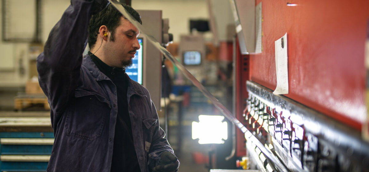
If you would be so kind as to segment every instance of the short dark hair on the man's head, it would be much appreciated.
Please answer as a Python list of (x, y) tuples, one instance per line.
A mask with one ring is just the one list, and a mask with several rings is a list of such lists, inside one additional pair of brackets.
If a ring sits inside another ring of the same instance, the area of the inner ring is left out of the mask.
[[(131, 6), (123, 4), (122, 6), (138, 21), (142, 24), (141, 16)], [(109, 4), (106, 8), (100, 11), (100, 13), (92, 15), (89, 23), (89, 48), (92, 49), (95, 46), (99, 29), (102, 25), (106, 25), (107, 29), (111, 32), (110, 40), (114, 41), (115, 29), (120, 25), (120, 18), (123, 15), (113, 5)]]

